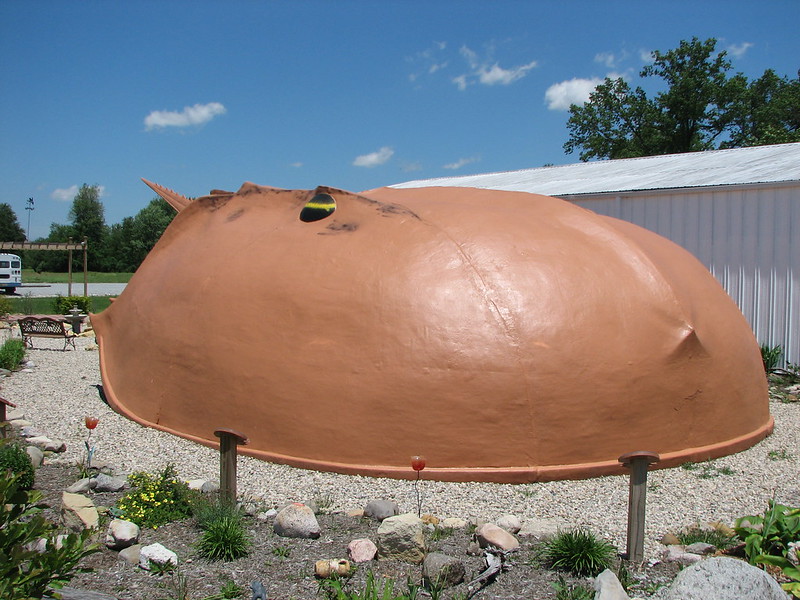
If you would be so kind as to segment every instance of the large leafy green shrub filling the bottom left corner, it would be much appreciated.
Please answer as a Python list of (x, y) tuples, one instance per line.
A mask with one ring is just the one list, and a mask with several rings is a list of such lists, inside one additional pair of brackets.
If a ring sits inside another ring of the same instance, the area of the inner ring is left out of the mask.
[[(42, 598), (89, 571), (78, 563), (99, 551), (87, 545), (89, 529), (62, 537), (56, 547), (54, 527), (40, 514), (41, 499), (39, 491), (22, 491), (18, 476), (0, 477), (0, 598)], [(41, 538), (47, 540), (44, 552), (32, 548)]]

